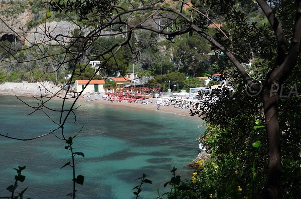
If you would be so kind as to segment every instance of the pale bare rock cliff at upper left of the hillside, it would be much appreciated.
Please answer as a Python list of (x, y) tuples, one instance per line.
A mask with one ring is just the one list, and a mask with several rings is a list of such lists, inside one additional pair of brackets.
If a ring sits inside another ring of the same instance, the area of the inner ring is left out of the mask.
[[(76, 28), (74, 24), (61, 21), (43, 23), (29, 30), (27, 25), (32, 19), (33, 12), (30, 1), (0, 1), (0, 40), (8, 39), (12, 42), (16, 39), (30, 45), (49, 42), (51, 38), (47, 38), (45, 35), (50, 33), (52, 37), (59, 34), (70, 36), (70, 32)], [(15, 38), (15, 35), (17, 38)], [(63, 41), (64, 38), (61, 37), (58, 40)]]

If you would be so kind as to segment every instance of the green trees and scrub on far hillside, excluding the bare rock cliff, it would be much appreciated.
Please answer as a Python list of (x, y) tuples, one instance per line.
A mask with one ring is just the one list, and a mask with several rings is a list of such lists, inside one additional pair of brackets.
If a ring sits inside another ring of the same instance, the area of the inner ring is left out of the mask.
[[(58, 3), (58, 1), (53, 2)], [(46, 21), (51, 22), (61, 20), (69, 22), (73, 20), (73, 22), (78, 23), (82, 27), (93, 27), (95, 25), (93, 25), (94, 22), (91, 24), (91, 20), (87, 20), (87, 18), (84, 17), (85, 13), (82, 13), (86, 12), (85, 10), (90, 4), (92, 4), (92, 2), (87, 2), (85, 4), (86, 7), (79, 7), (78, 9), (76, 9), (77, 7), (73, 2), (73, 8), (68, 10), (67, 7), (71, 2), (60, 1), (59, 3), (60, 6), (63, 7), (63, 10), (66, 8), (65, 13), (68, 13), (68, 16), (66, 16), (60, 10), (52, 9), (52, 11), (50, 11), (49, 8), (47, 9), (46, 7), (48, 4), (42, 0), (30, 1), (29, 4), (25, 4), (24, 2), (16, 2), (16, 5), (18, 5), (18, 8), (20, 7), (22, 9), (29, 9), (32, 11), (33, 18), (28, 23), (28, 28), (30, 29), (39, 24), (43, 24)], [(104, 1), (103, 4), (99, 5), (100, 10), (98, 8), (95, 8), (95, 10), (100, 12), (101, 9), (103, 9), (103, 6), (111, 3), (116, 2)], [(133, 1), (131, 3), (132, 5), (129, 5), (128, 1), (120, 2), (121, 6), (124, 8), (135, 5), (137, 6), (140, 4), (139, 1)], [(56, 6), (53, 4), (52, 7), (56, 8)], [(78, 4), (78, 6), (79, 5), (80, 4)], [(178, 4), (178, 6), (179, 5), (180, 4)], [(17, 7), (14, 9), (17, 9)], [(170, 8), (171, 5), (166, 4), (164, 7)], [(107, 13), (108, 12), (109, 11), (107, 11)], [(138, 21), (138, 19), (141, 20), (141, 18), (145, 18), (149, 14), (147, 13), (148, 12), (135, 13), (135, 15), (132, 17), (132, 23), (134, 23), (135, 20)], [(108, 27), (106, 30), (112, 31), (114, 26), (115, 25), (112, 25), (110, 26), (111, 29)], [(79, 50), (83, 50), (87, 55), (80, 59), (81, 64), (88, 64), (88, 62), (91, 60), (104, 61), (111, 56), (111, 51), (116, 49), (118, 46), (113, 49), (110, 48), (124, 40), (123, 37), (116, 36), (100, 37), (93, 41), (92, 45), (90, 45), (88, 48), (85, 48), (84, 46), (86, 44), (83, 43), (83, 36), (86, 33), (86, 29), (75, 29), (71, 31), (71, 42), (64, 47), (69, 49), (68, 53), (66, 54), (67, 57), (65, 57), (64, 54), (59, 55), (59, 53), (63, 52), (64, 49), (59, 48), (56, 45), (48, 46), (46, 44), (41, 44), (31, 48), (30, 50), (21, 50), (27, 49), (27, 46), (25, 46), (24, 43), (17, 42), (17, 44), (10, 44), (7, 41), (2, 41), (0, 43), (2, 47), (0, 48), (0, 57), (6, 62), (1, 63), (0, 71), (2, 73), (6, 73), (6, 76), (8, 77), (6, 81), (11, 82), (35, 82), (37, 78), (41, 77), (42, 80), (51, 80), (56, 83), (63, 83), (65, 82), (64, 75), (66, 75), (66, 73), (73, 73), (72, 68), (74, 64), (77, 64), (74, 62), (74, 60)], [(100, 71), (100, 75), (103, 78), (106, 78), (107, 75), (113, 75), (114, 71), (117, 70), (124, 75), (125, 71), (131, 70), (132, 64), (135, 64), (138, 67), (137, 72), (139, 72), (139, 74), (145, 74), (145, 72), (150, 71), (149, 76), (163, 76), (171, 72), (181, 72), (185, 75), (197, 77), (206, 73), (209, 75), (214, 73), (212, 69), (214, 66), (216, 66), (216, 64), (214, 63), (215, 61), (212, 62), (212, 60), (217, 59), (214, 58), (215, 56), (208, 56), (208, 53), (210, 52), (210, 46), (202, 37), (198, 36), (197, 34), (190, 36), (187, 34), (181, 37), (176, 37), (175, 42), (173, 43), (167, 42), (168, 40), (163, 40), (164, 38), (165, 37), (163, 35), (159, 37), (158, 34), (152, 32), (136, 31), (134, 33), (134, 37), (131, 39), (131, 46), (125, 46), (125, 48), (122, 48), (117, 52), (114, 58), (109, 59), (103, 66), (104, 69)], [(10, 49), (9, 53), (8, 49)], [(104, 53), (102, 57), (94, 56), (102, 53)], [(45, 59), (43, 58), (45, 56), (50, 57)], [(28, 60), (31, 62), (22, 63), (23, 61)], [(9, 62), (16, 63), (18, 67), (13, 67)], [(64, 68), (59, 67), (60, 62), (65, 62)], [(44, 65), (43, 63), (52, 64)], [(211, 67), (211, 65), (213, 67)], [(65, 71), (65, 69), (68, 71)], [(32, 73), (33, 70), (36, 70), (34, 74)], [(54, 78), (50, 78), (49, 75), (43, 75), (52, 71), (55, 71)], [(14, 73), (11, 77), (12, 72)], [(177, 84), (181, 87), (182, 82), (174, 83), (174, 85)]]

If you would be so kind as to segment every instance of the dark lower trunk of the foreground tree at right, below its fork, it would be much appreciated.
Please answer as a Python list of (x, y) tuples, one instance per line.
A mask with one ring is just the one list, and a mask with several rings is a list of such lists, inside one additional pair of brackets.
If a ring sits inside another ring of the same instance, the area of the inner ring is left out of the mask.
[(277, 117), (277, 100), (279, 84), (272, 84), (272, 87), (265, 86), (262, 98), (268, 143), (268, 173), (267, 180), (260, 198), (276, 199), (280, 187), (281, 154), (280, 154), (280, 133)]

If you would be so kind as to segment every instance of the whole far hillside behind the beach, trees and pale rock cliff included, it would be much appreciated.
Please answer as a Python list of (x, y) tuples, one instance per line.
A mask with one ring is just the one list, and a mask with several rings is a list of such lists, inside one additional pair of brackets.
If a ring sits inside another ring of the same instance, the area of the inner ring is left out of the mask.
[[(120, 2), (120, 5), (123, 7), (128, 7), (130, 4), (139, 5), (140, 2)], [(45, 23), (47, 27), (53, 28), (53, 32), (50, 35), (67, 34), (69, 37), (87, 35), (94, 25), (85, 19), (81, 20), (76, 12), (71, 12), (66, 16), (59, 11), (51, 10), (47, 1), (4, 1), (1, 5), (2, 14), (0, 16), (6, 23), (2, 23), (0, 57), (3, 62), (0, 64), (0, 82), (35, 82), (37, 79), (41, 79), (54, 83), (64, 83), (67, 74), (71, 73), (72, 62), (66, 62), (64, 67), (58, 69), (56, 67), (57, 63), (64, 62), (65, 57), (62, 54), (56, 57), (51, 56), (60, 54), (59, 52), (62, 49), (59, 49), (56, 45), (48, 45), (47, 49), (40, 48), (37, 45), (30, 48), (29, 51), (20, 50), (31, 47), (35, 42), (39, 43), (39, 40), (42, 38), (41, 35), (43, 35), (41, 29), (43, 29)], [(179, 7), (179, 5), (180, 3), (174, 1), (167, 1), (163, 4), (166, 8)], [(26, 18), (23, 19), (22, 23), (18, 23), (15, 17), (24, 12), (27, 13)], [(134, 23), (143, 18), (144, 15), (143, 12), (137, 13), (131, 17), (131, 20)], [(82, 30), (74, 26), (72, 21), (78, 23)], [(164, 24), (163, 20), (160, 20), (160, 22), (162, 25)], [(65, 26), (54, 27), (53, 24), (55, 23), (64, 23)], [(152, 22), (152, 26), (156, 27), (158, 24)], [(13, 31), (15, 30), (16, 34), (10, 30), (10, 27), (13, 27)], [(118, 28), (116, 25), (112, 25), (106, 28), (104, 32), (113, 33), (116, 32), (116, 28)], [(123, 37), (113, 35), (95, 40), (93, 46), (86, 49), (85, 56), (81, 58), (81, 64), (87, 65), (89, 61), (94, 60), (92, 55), (105, 52), (108, 50), (108, 47), (117, 44), (123, 39)], [(210, 45), (202, 37), (190, 35), (189, 33), (170, 41), (164, 35), (148, 31), (137, 31), (131, 40), (131, 43), (134, 44), (134, 49), (124, 48), (119, 51), (115, 55), (118, 65), (115, 61), (110, 60), (106, 64), (106, 70), (102, 77), (95, 78), (103, 79), (107, 74), (113, 75), (113, 71), (116, 70), (119, 70), (124, 75), (125, 71), (132, 70), (133, 65), (135, 65), (135, 71), (141, 76), (163, 77), (172, 72), (180, 72), (192, 78), (210, 76), (215, 72), (214, 69), (219, 64), (217, 62), (218, 57), (221, 56), (218, 52), (210, 49)], [(73, 46), (70, 50), (76, 52), (80, 48), (80, 42), (76, 41), (75, 44), (72, 44)], [(50, 41), (50, 43), (54, 44), (55, 42)], [(132, 50), (134, 52), (131, 52)], [(70, 56), (66, 58), (68, 60), (72, 59)], [(16, 60), (12, 61), (12, 59)], [(31, 62), (27, 62), (27, 60)], [(87, 79), (91, 76), (89, 72), (81, 71), (83, 66), (77, 65), (77, 67), (77, 79)], [(84, 66), (84, 68), (85, 71), (91, 71), (89, 66)], [(182, 85), (184, 80), (182, 79), (177, 84)], [(158, 81), (153, 82), (159, 83)], [(200, 84), (195, 86), (200, 86)]]

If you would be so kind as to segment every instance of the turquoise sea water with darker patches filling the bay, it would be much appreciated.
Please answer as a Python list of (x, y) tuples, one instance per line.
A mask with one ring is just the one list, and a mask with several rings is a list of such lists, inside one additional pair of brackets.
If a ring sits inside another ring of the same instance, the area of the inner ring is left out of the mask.
[[(32, 98), (23, 98), (31, 105)], [(35, 112), (15, 97), (0, 96), (0, 133), (30, 138), (56, 128), (43, 112)], [(50, 106), (59, 107), (59, 101)], [(155, 109), (155, 108), (154, 108)], [(45, 109), (46, 110), (46, 109)], [(54, 119), (58, 115), (47, 111)], [(164, 183), (171, 178), (175, 166), (181, 179), (189, 178), (193, 170), (186, 164), (198, 154), (195, 140), (203, 131), (197, 128), (201, 120), (171, 113), (149, 110), (120, 109), (99, 104), (83, 104), (76, 113), (76, 123), (71, 116), (65, 131), (74, 135), (76, 175), (85, 176), (83, 185), (77, 185), (77, 198), (134, 198), (132, 188), (139, 184), (135, 179), (142, 173), (153, 184), (142, 187), (139, 198), (156, 198), (157, 189), (168, 191)], [(57, 133), (60, 136), (60, 133)], [(31, 141), (11, 140), (0, 136), (0, 196), (7, 196), (6, 188), (14, 183), (19, 165), (26, 165), (26, 180), (17, 189), (29, 186), (26, 197), (70, 198), (72, 169), (60, 169), (70, 158), (65, 142), (53, 135)]]

